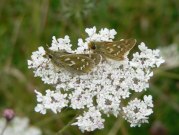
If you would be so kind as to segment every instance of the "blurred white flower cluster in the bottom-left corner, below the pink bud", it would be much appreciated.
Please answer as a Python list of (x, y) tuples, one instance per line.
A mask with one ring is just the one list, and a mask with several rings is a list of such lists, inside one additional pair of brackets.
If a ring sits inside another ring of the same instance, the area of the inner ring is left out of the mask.
[[(5, 127), (6, 119), (0, 119), (0, 133)], [(29, 126), (29, 119), (27, 117), (15, 117), (7, 126), (3, 135), (42, 135), (39, 128)]]

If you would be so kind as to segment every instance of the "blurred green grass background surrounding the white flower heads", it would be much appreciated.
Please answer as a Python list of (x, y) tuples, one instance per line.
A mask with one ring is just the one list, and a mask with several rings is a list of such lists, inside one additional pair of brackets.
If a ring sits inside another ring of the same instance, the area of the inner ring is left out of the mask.
[[(114, 28), (116, 39), (134, 37), (150, 48), (179, 44), (178, 0), (0, 0), (0, 111), (15, 109), (29, 116), (32, 124), (52, 135), (74, 116), (74, 111), (42, 116), (34, 112), (34, 89), (45, 90), (39, 78), (27, 69), (27, 59), (38, 46), (51, 43), (51, 37), (69, 35), (74, 47), (85, 37), (85, 28)], [(179, 74), (179, 69), (169, 73)], [(146, 92), (154, 96), (154, 114), (149, 124), (130, 128), (121, 118), (107, 118), (104, 130), (86, 135), (147, 135), (155, 121), (160, 121), (169, 135), (179, 131), (179, 79), (156, 74)], [(64, 135), (82, 134), (70, 127)]]

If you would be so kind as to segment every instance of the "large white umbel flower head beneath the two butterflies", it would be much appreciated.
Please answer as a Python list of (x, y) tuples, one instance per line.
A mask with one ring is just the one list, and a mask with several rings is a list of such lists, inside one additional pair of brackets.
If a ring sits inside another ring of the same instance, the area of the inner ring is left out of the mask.
[[(65, 50), (73, 54), (88, 54), (88, 43), (91, 41), (113, 41), (117, 32), (107, 28), (96, 31), (96, 27), (87, 28), (86, 39), (78, 39), (76, 50), (71, 49), (69, 36), (52, 38), (49, 49)], [(122, 116), (131, 126), (147, 123), (153, 113), (152, 96), (145, 95), (143, 100), (131, 99), (133, 93), (140, 93), (149, 88), (149, 80), (153, 76), (152, 69), (159, 67), (164, 60), (159, 50), (151, 50), (144, 43), (137, 46), (139, 52), (132, 59), (125, 57), (122, 61), (106, 59), (96, 65), (91, 72), (74, 75), (67, 70), (57, 69), (51, 60), (45, 57), (46, 51), (39, 47), (28, 60), (28, 67), (33, 69), (35, 77), (41, 77), (44, 83), (55, 86), (53, 90), (37, 94), (36, 112), (46, 114), (47, 110), (60, 113), (63, 108), (81, 110), (76, 118), (81, 131), (94, 131), (104, 128), (105, 119), (102, 114)], [(127, 102), (127, 104), (122, 104)]]

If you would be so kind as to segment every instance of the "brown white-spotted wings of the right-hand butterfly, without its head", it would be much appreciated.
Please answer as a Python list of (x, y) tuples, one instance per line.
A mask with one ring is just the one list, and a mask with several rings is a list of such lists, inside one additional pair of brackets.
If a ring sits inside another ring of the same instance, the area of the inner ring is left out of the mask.
[(101, 42), (99, 52), (114, 60), (123, 60), (124, 56), (135, 46), (135, 39), (126, 39), (115, 42)]

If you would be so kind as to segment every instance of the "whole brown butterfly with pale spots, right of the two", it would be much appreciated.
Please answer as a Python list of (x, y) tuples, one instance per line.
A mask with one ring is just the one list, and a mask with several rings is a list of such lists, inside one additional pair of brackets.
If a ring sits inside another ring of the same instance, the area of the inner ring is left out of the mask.
[(90, 42), (88, 44), (89, 50), (93, 53), (101, 54), (113, 60), (123, 60), (128, 55), (129, 51), (135, 46), (136, 39), (123, 39), (113, 42)]

